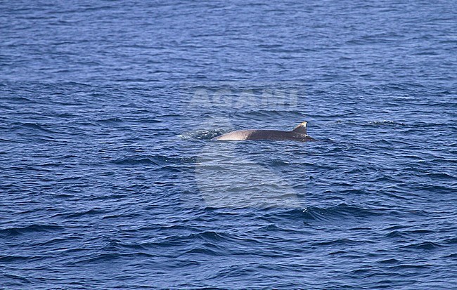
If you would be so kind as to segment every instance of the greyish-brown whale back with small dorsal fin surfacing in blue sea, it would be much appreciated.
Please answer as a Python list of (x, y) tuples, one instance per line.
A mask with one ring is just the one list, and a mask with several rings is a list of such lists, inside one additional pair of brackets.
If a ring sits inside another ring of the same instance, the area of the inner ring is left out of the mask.
[(307, 134), (307, 121), (300, 123), (292, 131), (278, 130), (240, 130), (212, 138), (215, 141), (243, 140), (293, 140), (300, 142), (316, 141)]

